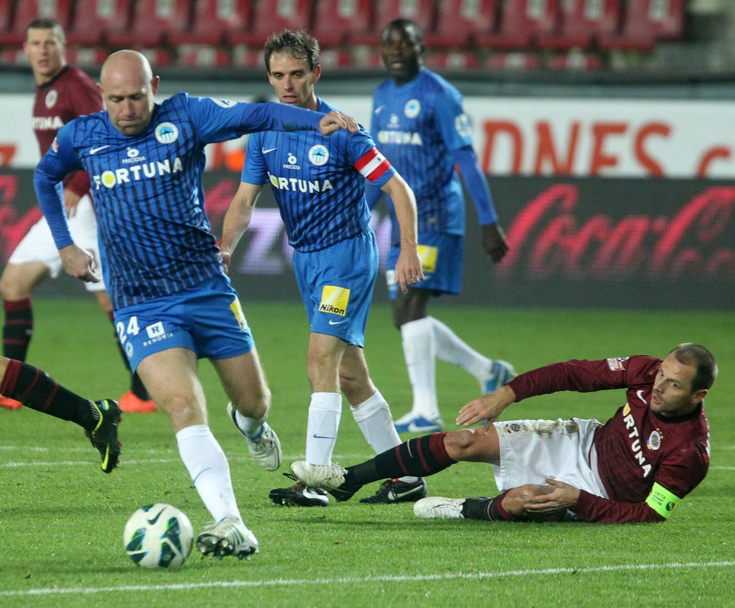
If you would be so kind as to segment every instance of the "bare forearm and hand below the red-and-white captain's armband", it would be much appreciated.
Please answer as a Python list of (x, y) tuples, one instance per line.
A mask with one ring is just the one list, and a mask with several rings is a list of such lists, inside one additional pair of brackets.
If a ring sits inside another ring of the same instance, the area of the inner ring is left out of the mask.
[(395, 218), (401, 232), (401, 253), (395, 262), (395, 282), (406, 293), (409, 285), (423, 281), (421, 259), (417, 250), (416, 199), (413, 190), (398, 174), (385, 182), (381, 190), (393, 201)]

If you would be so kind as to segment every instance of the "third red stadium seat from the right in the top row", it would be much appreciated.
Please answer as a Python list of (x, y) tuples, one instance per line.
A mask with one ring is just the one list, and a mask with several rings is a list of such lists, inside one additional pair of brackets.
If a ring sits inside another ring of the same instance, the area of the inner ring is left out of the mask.
[(500, 31), (476, 37), (479, 46), (495, 49), (524, 49), (537, 36), (556, 31), (559, 0), (506, 0)]

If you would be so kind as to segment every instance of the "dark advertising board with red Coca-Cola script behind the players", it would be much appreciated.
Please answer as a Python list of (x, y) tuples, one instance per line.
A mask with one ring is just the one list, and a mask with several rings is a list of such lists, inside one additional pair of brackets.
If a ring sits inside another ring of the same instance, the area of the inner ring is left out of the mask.
[[(510, 251), (484, 256), (476, 212), (467, 204), (461, 296), (447, 304), (502, 307), (635, 307), (730, 310), (735, 293), (735, 184), (705, 179), (492, 177), (495, 207)], [(218, 235), (239, 184), (232, 171), (204, 174), (206, 209)], [(32, 171), (0, 174), (0, 261), (35, 221)], [(390, 243), (384, 207), (371, 226)], [(298, 300), (291, 248), (264, 188), (230, 274), (243, 299)], [(84, 293), (71, 279), (40, 293)], [(385, 300), (382, 275), (376, 299)]]

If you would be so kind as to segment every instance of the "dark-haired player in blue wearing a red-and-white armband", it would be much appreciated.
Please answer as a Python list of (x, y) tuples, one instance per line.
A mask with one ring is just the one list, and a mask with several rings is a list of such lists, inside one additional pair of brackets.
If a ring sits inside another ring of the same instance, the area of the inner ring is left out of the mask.
[[(265, 43), (270, 84), (282, 104), (328, 112), (318, 99), (319, 43), (304, 31), (285, 29)], [(295, 248), (293, 267), (309, 318), (307, 373), (312, 385), (306, 426), (306, 459), (331, 462), (342, 395), (376, 452), (401, 443), (390, 408), (373, 385), (362, 353), (365, 323), (378, 268), (365, 183), (392, 197), (401, 226), (395, 273), (401, 289), (422, 278), (416, 250), (416, 208), (406, 182), (376, 149), (368, 133), (260, 132), (248, 140), (243, 176), (225, 216), (221, 247), (229, 260), (248, 228), (262, 186), (270, 183)], [(426, 495), (417, 477), (389, 479), (370, 503), (415, 501)], [(274, 504), (326, 506), (323, 490), (297, 483), (271, 490)], [(339, 499), (339, 497), (337, 497)]]

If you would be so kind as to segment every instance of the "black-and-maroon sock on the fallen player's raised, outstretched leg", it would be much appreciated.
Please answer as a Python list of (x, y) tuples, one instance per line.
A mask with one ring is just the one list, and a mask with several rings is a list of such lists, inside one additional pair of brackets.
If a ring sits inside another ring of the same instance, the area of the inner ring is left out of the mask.
[(404, 476), (425, 477), (444, 471), (456, 460), (444, 447), (446, 432), (414, 437), (360, 465), (347, 468), (345, 485), (365, 485), (381, 479)]

